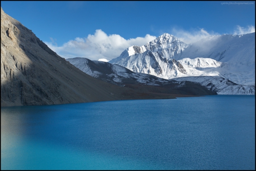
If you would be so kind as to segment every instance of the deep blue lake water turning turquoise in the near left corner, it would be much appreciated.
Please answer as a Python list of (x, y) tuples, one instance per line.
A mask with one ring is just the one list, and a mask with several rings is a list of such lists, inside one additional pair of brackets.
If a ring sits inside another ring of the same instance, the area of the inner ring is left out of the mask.
[(1, 107), (1, 169), (255, 169), (255, 95)]

